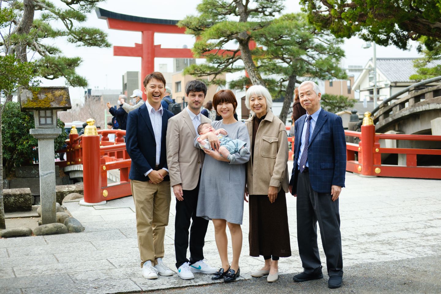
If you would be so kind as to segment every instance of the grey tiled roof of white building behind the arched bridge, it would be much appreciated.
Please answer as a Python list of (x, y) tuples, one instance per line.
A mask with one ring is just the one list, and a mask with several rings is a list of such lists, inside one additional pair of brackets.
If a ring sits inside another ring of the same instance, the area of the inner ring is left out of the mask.
[[(390, 82), (410, 82), (409, 77), (416, 74), (413, 61), (416, 58), (377, 58), (377, 69)], [(372, 61), (372, 59), (370, 60)], [(434, 64), (441, 64), (440, 60)]]

